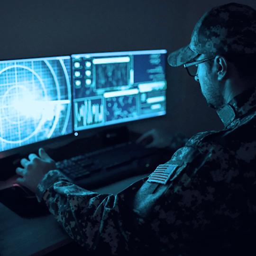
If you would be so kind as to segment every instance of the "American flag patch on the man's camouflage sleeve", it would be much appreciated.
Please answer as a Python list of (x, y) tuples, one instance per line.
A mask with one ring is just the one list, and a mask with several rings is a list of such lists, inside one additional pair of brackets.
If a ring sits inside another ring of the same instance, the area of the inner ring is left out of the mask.
[(166, 184), (177, 166), (179, 165), (158, 165), (147, 181)]

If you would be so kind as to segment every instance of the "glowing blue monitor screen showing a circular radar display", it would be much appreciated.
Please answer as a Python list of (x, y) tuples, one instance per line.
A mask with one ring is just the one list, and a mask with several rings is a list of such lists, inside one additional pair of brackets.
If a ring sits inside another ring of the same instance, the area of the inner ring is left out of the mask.
[(0, 61), (0, 151), (73, 132), (70, 56)]

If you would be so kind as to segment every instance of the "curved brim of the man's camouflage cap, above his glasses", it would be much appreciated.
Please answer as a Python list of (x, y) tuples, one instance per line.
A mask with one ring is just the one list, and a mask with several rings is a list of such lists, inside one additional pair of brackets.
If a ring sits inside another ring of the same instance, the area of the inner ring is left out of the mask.
[(197, 55), (198, 53), (193, 52), (189, 46), (185, 46), (169, 54), (168, 63), (173, 67), (177, 67), (191, 61)]

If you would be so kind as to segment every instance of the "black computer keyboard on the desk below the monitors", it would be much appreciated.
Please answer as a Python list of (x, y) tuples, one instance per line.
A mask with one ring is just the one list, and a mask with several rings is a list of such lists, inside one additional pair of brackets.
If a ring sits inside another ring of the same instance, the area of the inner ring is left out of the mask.
[(57, 169), (73, 183), (90, 189), (113, 183), (129, 176), (149, 174), (164, 164), (172, 154), (167, 149), (146, 148), (136, 143), (123, 143), (75, 155), (56, 163)]

